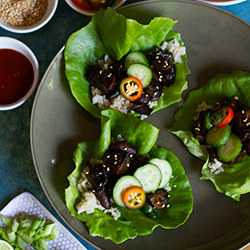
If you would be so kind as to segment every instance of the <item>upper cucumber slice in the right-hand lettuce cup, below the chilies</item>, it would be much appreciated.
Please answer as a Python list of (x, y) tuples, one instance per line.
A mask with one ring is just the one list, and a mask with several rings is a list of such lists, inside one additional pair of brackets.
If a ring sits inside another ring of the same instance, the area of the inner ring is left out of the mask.
[(206, 134), (206, 143), (213, 147), (219, 147), (228, 141), (230, 134), (231, 127), (229, 125), (221, 128), (213, 127)]

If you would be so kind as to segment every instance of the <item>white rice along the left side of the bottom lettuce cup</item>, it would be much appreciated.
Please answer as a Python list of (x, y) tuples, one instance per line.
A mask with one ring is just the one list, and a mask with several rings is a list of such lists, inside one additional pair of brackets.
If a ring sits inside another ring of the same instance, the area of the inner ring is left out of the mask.
[(111, 207), (110, 209), (104, 208), (96, 198), (95, 194), (90, 191), (92, 185), (86, 178), (86, 173), (88, 171), (89, 168), (84, 169), (78, 183), (78, 190), (82, 193), (81, 201), (76, 205), (78, 214), (83, 212), (91, 214), (95, 212), (95, 209), (100, 209), (104, 213), (110, 214), (115, 220), (117, 220), (121, 216), (119, 209), (116, 207)]

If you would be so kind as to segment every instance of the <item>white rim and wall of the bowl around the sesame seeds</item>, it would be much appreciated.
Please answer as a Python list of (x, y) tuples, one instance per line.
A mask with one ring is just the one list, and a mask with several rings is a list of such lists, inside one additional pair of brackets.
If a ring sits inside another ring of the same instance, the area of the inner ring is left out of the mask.
[(5, 30), (14, 32), (14, 33), (33, 32), (35, 30), (40, 29), (41, 27), (43, 27), (45, 24), (49, 22), (49, 20), (52, 18), (52, 16), (54, 15), (56, 11), (57, 5), (58, 5), (58, 0), (48, 0), (48, 6), (47, 6), (47, 9), (43, 18), (35, 24), (19, 27), (19, 26), (12, 26), (4, 22), (2, 19), (0, 19), (0, 27), (2, 27)]

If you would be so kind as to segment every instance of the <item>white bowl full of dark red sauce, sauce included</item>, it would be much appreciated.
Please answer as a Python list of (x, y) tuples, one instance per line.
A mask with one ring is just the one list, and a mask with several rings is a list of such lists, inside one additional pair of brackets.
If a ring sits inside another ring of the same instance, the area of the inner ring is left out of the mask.
[(39, 64), (19, 40), (0, 37), (0, 111), (22, 105), (35, 91)]

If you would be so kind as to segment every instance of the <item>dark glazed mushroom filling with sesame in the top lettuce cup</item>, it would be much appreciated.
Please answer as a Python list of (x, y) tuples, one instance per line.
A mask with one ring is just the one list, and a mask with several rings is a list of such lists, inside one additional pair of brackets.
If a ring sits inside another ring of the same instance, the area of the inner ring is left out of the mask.
[[(164, 86), (170, 86), (175, 81), (176, 67), (173, 54), (168, 50), (157, 47), (154, 51), (145, 54), (152, 71), (150, 84), (143, 88), (142, 95), (136, 101), (130, 101), (130, 111), (141, 115), (149, 115), (152, 112), (152, 102), (158, 101), (162, 96)], [(105, 94), (106, 99), (112, 100), (120, 95), (120, 82), (127, 77), (123, 57), (112, 62), (105, 69), (100, 65), (91, 67), (87, 71), (86, 78), (89, 83)]]

